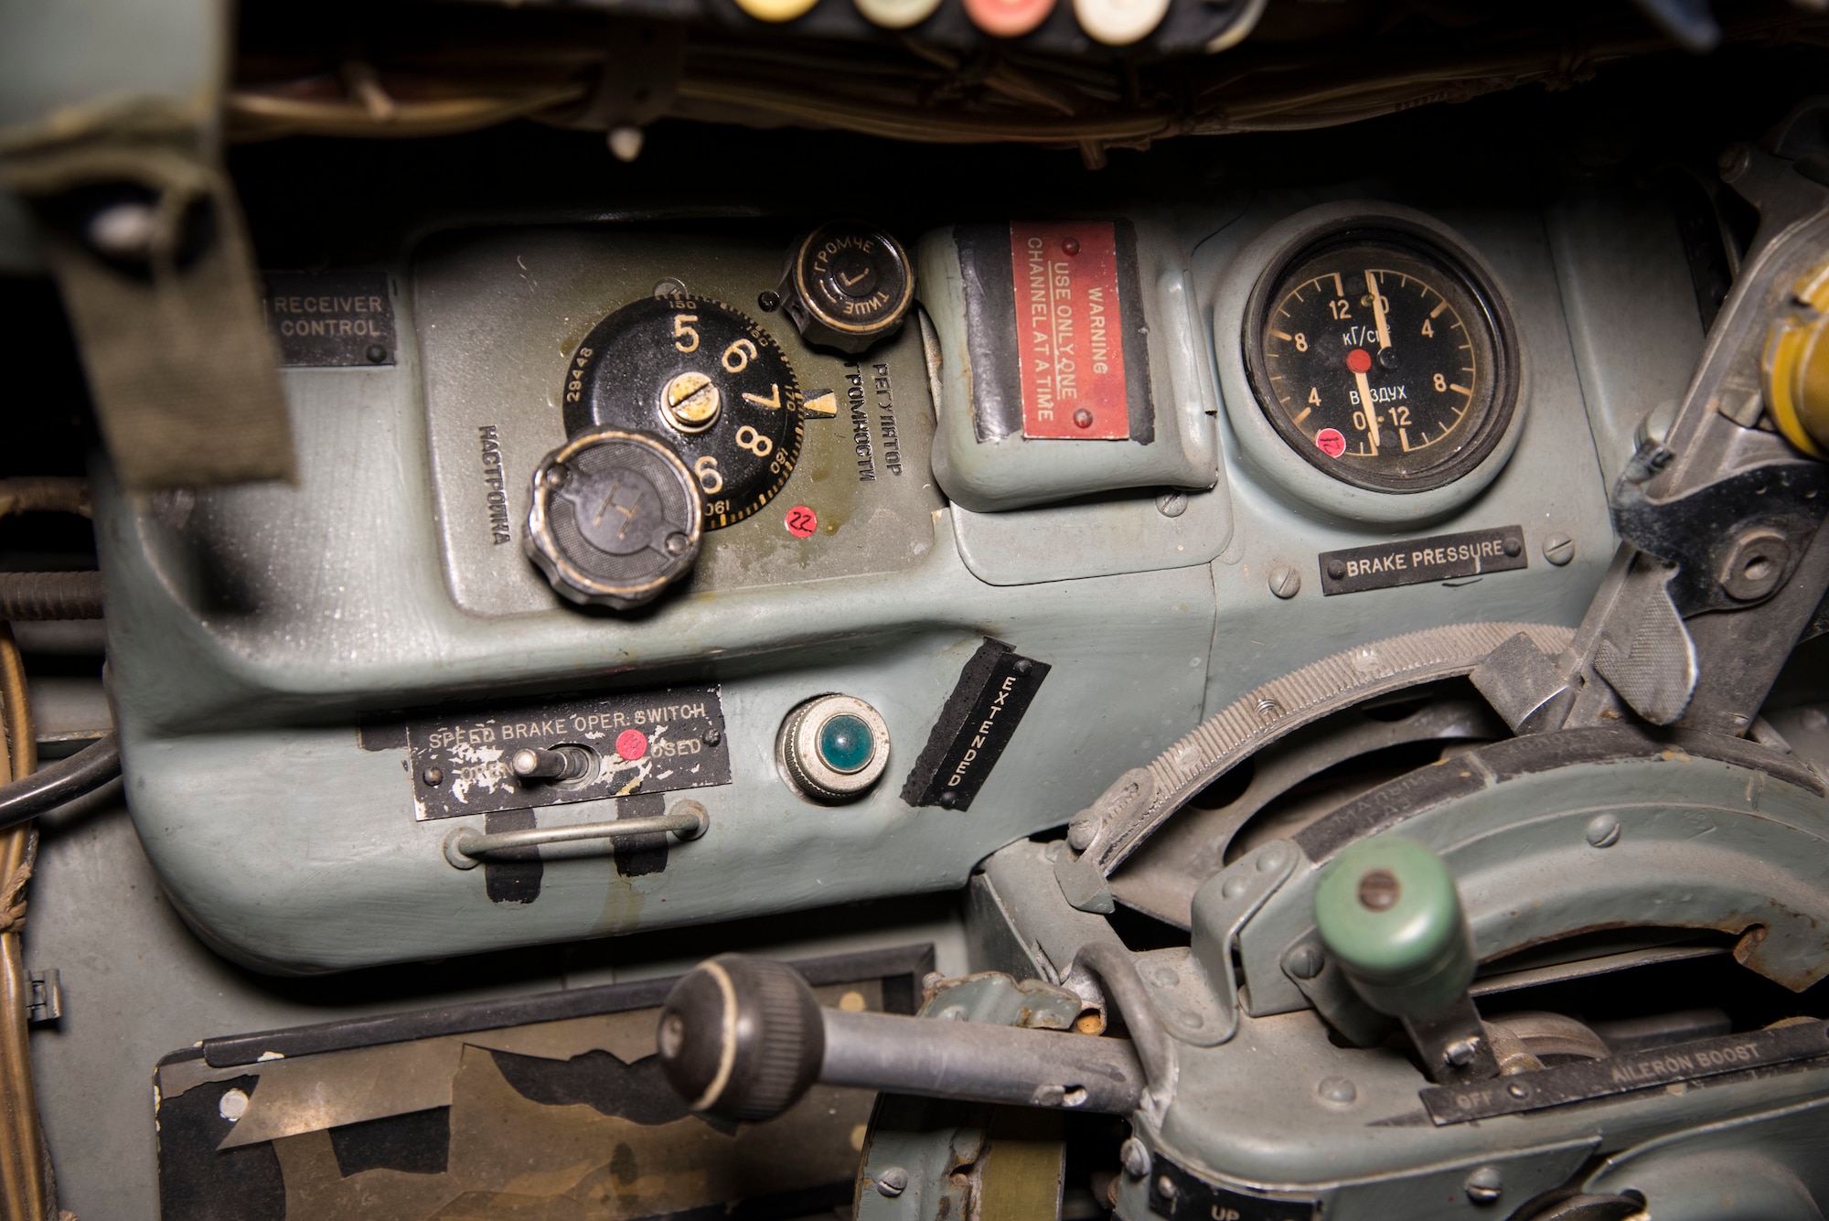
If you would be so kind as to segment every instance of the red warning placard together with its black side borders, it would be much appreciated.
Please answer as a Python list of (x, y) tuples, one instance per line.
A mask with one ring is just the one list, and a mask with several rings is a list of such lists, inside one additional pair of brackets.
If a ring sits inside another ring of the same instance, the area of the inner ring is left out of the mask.
[(960, 225), (977, 439), (1156, 439), (1127, 221)]

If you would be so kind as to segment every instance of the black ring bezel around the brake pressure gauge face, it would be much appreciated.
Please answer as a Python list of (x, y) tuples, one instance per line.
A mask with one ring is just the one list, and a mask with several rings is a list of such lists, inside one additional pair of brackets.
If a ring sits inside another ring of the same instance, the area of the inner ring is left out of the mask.
[[(1350, 462), (1330, 459), (1313, 446), (1288, 411), (1278, 409), (1277, 395), (1271, 391), (1269, 369), (1264, 364), (1264, 327), (1273, 309), (1271, 294), (1291, 269), (1328, 250), (1353, 245), (1385, 245), (1419, 260), (1425, 267), (1445, 267), (1449, 274), (1456, 276), (1460, 289), (1472, 298), (1487, 333), (1492, 336), (1492, 371), (1489, 375), (1492, 391), (1485, 417), (1445, 462), (1416, 475), (1355, 470)], [(1251, 296), (1246, 298), (1244, 358), (1257, 406), (1284, 442), (1326, 477), (1372, 492), (1416, 495), (1461, 479), (1492, 453), (1518, 409), (1518, 334), (1498, 285), (1492, 283), (1471, 250), (1445, 239), (1432, 228), (1396, 216), (1335, 223), (1288, 241), (1258, 274)]]

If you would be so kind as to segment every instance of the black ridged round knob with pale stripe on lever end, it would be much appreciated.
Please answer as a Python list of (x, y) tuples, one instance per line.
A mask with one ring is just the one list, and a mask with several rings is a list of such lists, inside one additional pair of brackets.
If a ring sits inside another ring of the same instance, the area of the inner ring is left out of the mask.
[(695, 1111), (774, 1119), (825, 1062), (825, 1020), (788, 965), (719, 954), (686, 974), (660, 1011), (660, 1069)]

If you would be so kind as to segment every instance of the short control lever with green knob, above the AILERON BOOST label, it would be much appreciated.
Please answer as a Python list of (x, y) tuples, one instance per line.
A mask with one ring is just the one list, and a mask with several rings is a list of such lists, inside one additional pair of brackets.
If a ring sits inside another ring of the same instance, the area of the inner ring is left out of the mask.
[(1403, 1022), (1430, 1080), (1498, 1077), (1467, 994), (1472, 930), (1439, 855), (1397, 835), (1350, 844), (1315, 883), (1315, 929), (1359, 998)]

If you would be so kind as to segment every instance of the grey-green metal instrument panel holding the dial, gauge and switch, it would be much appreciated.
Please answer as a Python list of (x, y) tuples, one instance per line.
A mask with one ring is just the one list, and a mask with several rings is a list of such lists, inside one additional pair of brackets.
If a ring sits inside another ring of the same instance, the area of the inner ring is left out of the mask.
[[(1247, 243), (1304, 203), (1264, 197), (1242, 216), (1138, 228), (1172, 234), (1149, 258), (1182, 269), (1194, 325), (1222, 351), (1218, 362), (1185, 345), (1158, 353), (1176, 388), (1211, 395), (1214, 490), (1193, 506), (1136, 488), (986, 514), (995, 528), (971, 532), (957, 530), (929, 466), (929, 388), (960, 382), (949, 373), (960, 353), (942, 345), (929, 367), (913, 320), (856, 364), (807, 347), (755, 307), (779, 280), (779, 245), (613, 225), (428, 241), (390, 269), (395, 364), (285, 371), (296, 488), (130, 501), (99, 472), (102, 570), (123, 609), (110, 614), (110, 656), (128, 797), (177, 907), (240, 960), (335, 971), (953, 888), (1207, 711), (1319, 656), (1439, 623), (1577, 623), (1611, 528), (1536, 214), (1454, 219), (1505, 292), (1527, 369), (1516, 451), (1480, 495), (1355, 525), (1238, 461), (1233, 404), (1218, 409), (1235, 386), (1213, 373), (1236, 338), (1211, 331), (1216, 298)], [(572, 347), (664, 278), (761, 320), (801, 389), (832, 389), (838, 415), (807, 419), (779, 495), (708, 532), (684, 589), (633, 614), (580, 610), (521, 554), (527, 481), (563, 441)], [(885, 466), (878, 391), (893, 404), (900, 472)], [(938, 404), (942, 417), (962, 409)], [(510, 543), (496, 541), (497, 481)], [(788, 521), (797, 506), (819, 521), (807, 537)], [(1324, 552), (1507, 528), (1522, 532), (1522, 568), (1324, 596)], [(1551, 537), (1567, 539), (1571, 563), (1544, 557)], [(1282, 579), (1273, 592), (1286, 568), (1300, 587)], [(986, 640), (1048, 667), (1046, 680), (969, 810), (911, 806), (911, 768)], [(525, 724), (593, 700), (638, 709), (688, 687), (713, 693), (693, 733), (715, 731), (728, 784), (415, 817), (428, 764), (406, 735), (390, 737), (410, 720)], [(823, 693), (869, 704), (891, 740), (882, 780), (849, 804), (799, 797), (777, 759), (785, 718)], [(441, 852), (457, 824), (602, 823), (680, 799), (710, 817), (690, 843), (547, 846), (468, 872)]]

